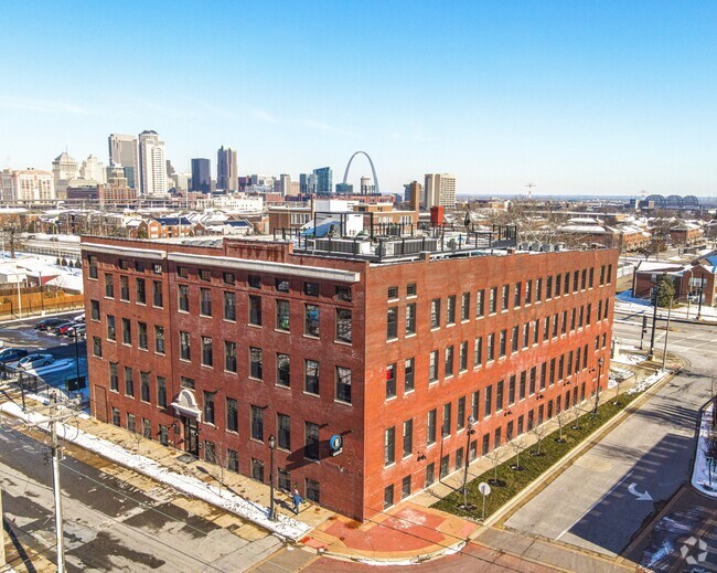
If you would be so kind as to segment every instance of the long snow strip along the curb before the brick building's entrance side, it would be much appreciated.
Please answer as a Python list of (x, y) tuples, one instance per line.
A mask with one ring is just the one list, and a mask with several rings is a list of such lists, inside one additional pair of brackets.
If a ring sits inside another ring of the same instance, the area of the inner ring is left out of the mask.
[[(12, 402), (0, 404), (0, 412), (24, 420), (45, 432), (50, 429), (45, 416), (36, 413), (24, 413), (18, 404)], [(247, 519), (280, 537), (298, 540), (311, 529), (306, 523), (282, 514), (278, 516), (277, 521), (271, 521), (268, 518), (268, 510), (264, 506), (244, 499), (226, 489), (220, 491), (217, 486), (205, 484), (201, 479), (192, 476), (183, 476), (170, 471), (153, 459), (135, 454), (118, 444), (101, 439), (69, 424), (58, 423), (57, 434), (67, 442), (72, 442), (107, 459), (111, 459), (121, 466), (135, 469), (161, 484), (167, 484), (188, 496), (202, 499), (207, 503), (236, 513), (240, 518)]]

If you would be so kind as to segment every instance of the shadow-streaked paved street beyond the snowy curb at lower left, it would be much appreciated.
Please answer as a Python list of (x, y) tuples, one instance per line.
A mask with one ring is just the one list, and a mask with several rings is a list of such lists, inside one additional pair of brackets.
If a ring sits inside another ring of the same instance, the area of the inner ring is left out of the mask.
[[(46, 560), (55, 560), (47, 447), (17, 427), (2, 420), (4, 519), (19, 549), (9, 556), (18, 571), (23, 555), (32, 556), (29, 571), (47, 571)], [(61, 470), (68, 571), (244, 571), (281, 547), (277, 538), (201, 501), (85, 452), (76, 455), (82, 460), (66, 457)]]

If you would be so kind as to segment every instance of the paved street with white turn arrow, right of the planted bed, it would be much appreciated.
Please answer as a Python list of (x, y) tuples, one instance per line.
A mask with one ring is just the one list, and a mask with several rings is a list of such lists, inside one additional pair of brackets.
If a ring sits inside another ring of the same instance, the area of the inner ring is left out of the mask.
[[(641, 320), (619, 320), (616, 336), (639, 344)], [(717, 328), (674, 323), (670, 340), (671, 351), (688, 361), (681, 374), (511, 516), (506, 528), (616, 556), (688, 480), (697, 410), (709, 396), (717, 357)], [(707, 513), (717, 507), (702, 502)]]

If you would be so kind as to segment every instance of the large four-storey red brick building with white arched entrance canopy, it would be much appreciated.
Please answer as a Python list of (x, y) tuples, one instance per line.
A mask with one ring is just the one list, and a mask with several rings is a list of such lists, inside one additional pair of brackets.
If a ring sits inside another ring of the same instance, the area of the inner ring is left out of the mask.
[(370, 519), (604, 388), (617, 251), (336, 243), (83, 237), (93, 414)]

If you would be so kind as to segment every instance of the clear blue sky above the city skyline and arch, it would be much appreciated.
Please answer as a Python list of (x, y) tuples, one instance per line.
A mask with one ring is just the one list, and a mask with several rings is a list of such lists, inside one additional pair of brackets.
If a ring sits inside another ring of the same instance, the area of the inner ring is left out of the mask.
[[(715, 194), (717, 2), (0, 3), (0, 168), (157, 130), (242, 173), (356, 150), (382, 191)], [(357, 158), (352, 180), (370, 174)]]

